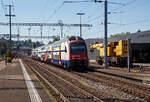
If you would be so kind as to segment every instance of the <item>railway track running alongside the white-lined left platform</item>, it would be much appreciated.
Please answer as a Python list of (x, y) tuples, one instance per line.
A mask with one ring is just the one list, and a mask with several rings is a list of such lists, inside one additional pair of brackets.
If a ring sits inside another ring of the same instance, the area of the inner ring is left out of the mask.
[[(92, 95), (86, 90), (81, 89), (80, 87), (74, 85), (73, 83), (65, 80), (64, 78), (56, 75), (55, 73), (49, 71), (43, 66), (30, 62), (28, 60), (24, 61), (31, 70), (36, 73), (38, 78), (44, 81), (46, 86), (55, 90), (55, 93), (58, 97), (61, 98), (61, 101), (64, 102), (103, 102), (98, 97)], [(33, 67), (34, 66), (34, 67)], [(60, 99), (58, 99), (60, 100)]]

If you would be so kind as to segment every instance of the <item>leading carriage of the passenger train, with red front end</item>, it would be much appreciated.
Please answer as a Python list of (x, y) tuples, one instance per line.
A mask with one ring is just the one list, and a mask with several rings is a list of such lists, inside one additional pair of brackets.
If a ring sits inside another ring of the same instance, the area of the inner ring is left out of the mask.
[(65, 68), (88, 67), (88, 54), (85, 41), (72, 36), (52, 44), (51, 62)]

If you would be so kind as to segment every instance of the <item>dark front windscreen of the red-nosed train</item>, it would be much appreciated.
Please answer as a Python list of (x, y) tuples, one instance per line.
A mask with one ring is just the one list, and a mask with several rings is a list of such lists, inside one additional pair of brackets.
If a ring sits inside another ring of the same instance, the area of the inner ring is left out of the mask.
[(85, 43), (71, 43), (70, 44), (71, 53), (87, 53), (87, 48)]

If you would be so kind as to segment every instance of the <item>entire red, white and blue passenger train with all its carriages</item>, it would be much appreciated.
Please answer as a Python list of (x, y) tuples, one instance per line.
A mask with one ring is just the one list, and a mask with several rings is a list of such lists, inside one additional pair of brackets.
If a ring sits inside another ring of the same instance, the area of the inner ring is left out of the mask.
[(89, 63), (85, 41), (78, 36), (68, 37), (33, 49), (31, 56), (64, 68), (87, 68)]

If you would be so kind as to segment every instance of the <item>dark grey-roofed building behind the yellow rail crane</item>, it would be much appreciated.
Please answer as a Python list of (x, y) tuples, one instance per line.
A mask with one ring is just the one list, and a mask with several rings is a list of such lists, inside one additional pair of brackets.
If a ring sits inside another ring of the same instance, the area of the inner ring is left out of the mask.
[[(138, 63), (150, 63), (150, 30), (143, 31), (139, 33), (132, 33), (125, 36), (109, 38), (108, 41), (119, 41), (119, 40), (127, 40), (131, 39), (131, 57), (133, 62)], [(94, 42), (103, 42), (103, 40), (99, 39), (87, 39), (86, 43), (89, 45)], [(88, 51), (90, 51), (88, 47)], [(94, 52), (98, 55), (96, 52)], [(96, 55), (92, 55), (89, 52), (89, 58), (95, 59)]]

